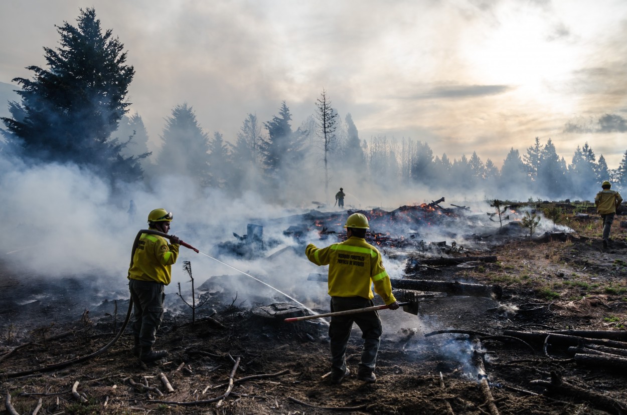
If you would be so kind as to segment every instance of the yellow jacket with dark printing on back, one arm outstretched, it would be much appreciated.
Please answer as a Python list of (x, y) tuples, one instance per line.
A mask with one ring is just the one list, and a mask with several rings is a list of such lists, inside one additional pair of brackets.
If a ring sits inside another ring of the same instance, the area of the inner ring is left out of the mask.
[(332, 297), (364, 297), (372, 300), (374, 291), (386, 305), (396, 301), (379, 250), (364, 238), (351, 236), (327, 248), (308, 244), (305, 254), (315, 265), (329, 265), (329, 295)]

